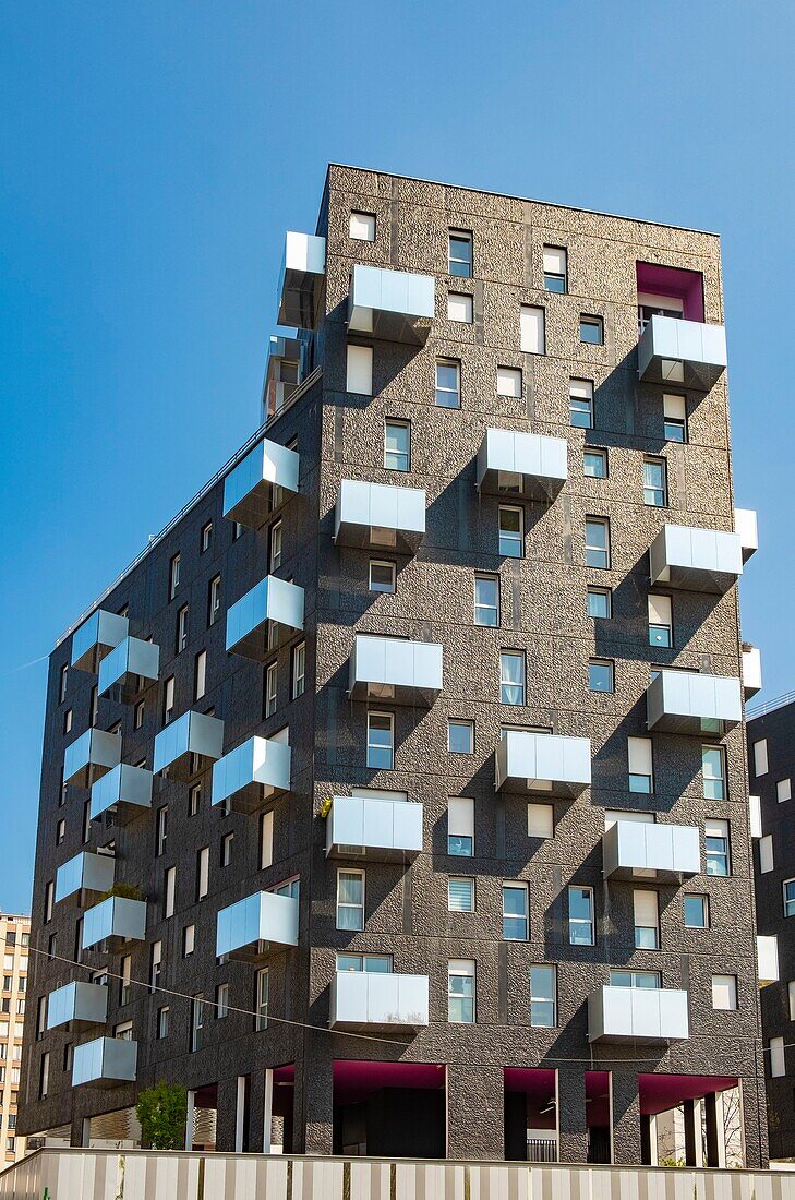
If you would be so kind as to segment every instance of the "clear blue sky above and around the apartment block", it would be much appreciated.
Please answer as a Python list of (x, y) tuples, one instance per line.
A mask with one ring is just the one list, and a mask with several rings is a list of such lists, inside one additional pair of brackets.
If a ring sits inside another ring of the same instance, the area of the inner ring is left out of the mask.
[(32, 880), (24, 665), (254, 428), (329, 160), (722, 234), (743, 632), (761, 698), (795, 686), (794, 42), (770, 0), (0, 2), (0, 907)]

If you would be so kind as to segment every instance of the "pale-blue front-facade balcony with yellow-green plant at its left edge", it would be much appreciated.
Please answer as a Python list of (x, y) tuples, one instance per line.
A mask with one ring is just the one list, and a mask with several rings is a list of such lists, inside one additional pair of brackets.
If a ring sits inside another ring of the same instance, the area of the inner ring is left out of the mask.
[(335, 796), (326, 817), (326, 854), (403, 862), (422, 850), (422, 805), (411, 800)]

